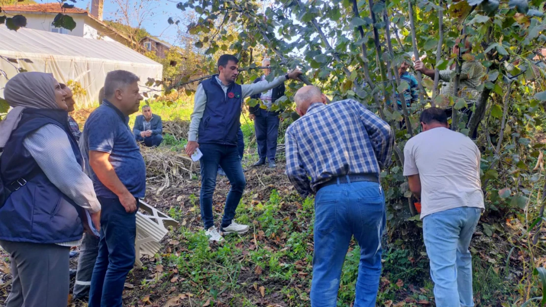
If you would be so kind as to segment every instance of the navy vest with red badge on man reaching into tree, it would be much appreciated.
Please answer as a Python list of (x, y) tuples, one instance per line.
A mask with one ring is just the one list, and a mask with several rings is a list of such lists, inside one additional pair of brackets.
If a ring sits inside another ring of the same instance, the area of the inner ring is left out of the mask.
[(199, 123), (198, 141), (237, 146), (237, 133), (241, 125), (241, 85), (233, 82), (224, 93), (216, 76), (201, 82), (206, 94), (206, 106)]

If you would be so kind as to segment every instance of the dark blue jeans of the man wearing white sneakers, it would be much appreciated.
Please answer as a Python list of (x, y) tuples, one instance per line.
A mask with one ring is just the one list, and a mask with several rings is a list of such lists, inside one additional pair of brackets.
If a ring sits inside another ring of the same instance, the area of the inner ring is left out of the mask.
[(242, 172), (241, 161), (237, 146), (218, 145), (212, 143), (199, 144), (199, 149), (203, 153), (201, 157), (201, 192), (199, 202), (201, 204), (201, 219), (205, 229), (214, 226), (214, 216), (212, 213), (212, 195), (216, 188), (216, 175), (218, 165), (222, 167), (225, 176), (228, 177), (232, 188), (229, 189), (228, 197), (225, 199), (224, 216), (222, 218), (222, 227), (232, 224), (235, 216), (235, 209), (239, 206), (242, 192), (245, 190), (246, 179)]

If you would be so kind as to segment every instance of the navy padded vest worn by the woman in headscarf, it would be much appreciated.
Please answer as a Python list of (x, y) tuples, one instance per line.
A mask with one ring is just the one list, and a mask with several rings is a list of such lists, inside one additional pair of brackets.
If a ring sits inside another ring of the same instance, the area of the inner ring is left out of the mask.
[(11, 190), (0, 208), (1, 240), (62, 243), (79, 240), (83, 234), (84, 210), (50, 182), (23, 145), (29, 134), (46, 124), (57, 125), (66, 132), (76, 160), (82, 163), (66, 111), (25, 109), (0, 156), (2, 182)]

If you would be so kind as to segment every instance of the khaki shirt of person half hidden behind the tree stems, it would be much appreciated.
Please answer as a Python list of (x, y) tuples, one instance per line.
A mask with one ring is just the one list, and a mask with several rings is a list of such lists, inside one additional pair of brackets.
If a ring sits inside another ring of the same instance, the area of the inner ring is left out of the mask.
[[(465, 99), (467, 104), (472, 104), (478, 99), (480, 93), (476, 88), (482, 83), (484, 74), (485, 70), (480, 62), (465, 61), (462, 63), (459, 92), (460, 97)], [(444, 81), (443, 86), (440, 87), (441, 95), (445, 95), (446, 97), (453, 96), (454, 78), (454, 69), (440, 70), (440, 80)]]

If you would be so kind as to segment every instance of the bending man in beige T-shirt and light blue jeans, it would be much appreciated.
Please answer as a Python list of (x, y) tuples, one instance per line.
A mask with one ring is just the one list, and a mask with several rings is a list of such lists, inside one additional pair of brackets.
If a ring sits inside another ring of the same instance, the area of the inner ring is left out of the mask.
[(421, 219), (438, 307), (472, 307), (468, 251), (484, 209), (480, 153), (467, 136), (449, 130), (444, 110), (421, 114), (423, 132), (404, 148), (404, 176), (421, 198)]

